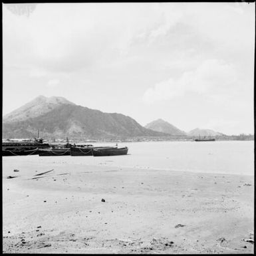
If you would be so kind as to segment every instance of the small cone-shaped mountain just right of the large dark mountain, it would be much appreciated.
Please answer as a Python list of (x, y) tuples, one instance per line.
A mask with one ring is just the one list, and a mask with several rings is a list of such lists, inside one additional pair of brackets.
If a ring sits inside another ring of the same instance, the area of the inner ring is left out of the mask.
[(164, 132), (166, 134), (175, 135), (175, 136), (186, 136), (186, 132), (183, 132), (182, 130), (176, 128), (172, 124), (162, 119), (158, 119), (153, 122), (150, 122), (145, 126), (145, 128), (154, 130), (156, 132)]

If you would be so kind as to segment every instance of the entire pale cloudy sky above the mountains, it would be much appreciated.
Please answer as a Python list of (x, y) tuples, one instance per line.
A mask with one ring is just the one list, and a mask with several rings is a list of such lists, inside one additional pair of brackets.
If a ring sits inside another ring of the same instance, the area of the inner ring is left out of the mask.
[(3, 115), (39, 95), (254, 134), (255, 3), (3, 4)]

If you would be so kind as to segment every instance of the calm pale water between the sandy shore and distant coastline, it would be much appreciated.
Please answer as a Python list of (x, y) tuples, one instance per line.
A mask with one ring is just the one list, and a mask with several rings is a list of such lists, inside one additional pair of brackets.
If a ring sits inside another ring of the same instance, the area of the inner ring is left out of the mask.
[[(104, 143), (114, 146), (114, 143)], [(101, 145), (101, 144), (94, 144)], [(128, 142), (127, 156), (13, 156), (4, 161), (105, 165), (186, 172), (254, 175), (254, 142)]]

